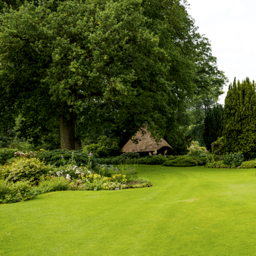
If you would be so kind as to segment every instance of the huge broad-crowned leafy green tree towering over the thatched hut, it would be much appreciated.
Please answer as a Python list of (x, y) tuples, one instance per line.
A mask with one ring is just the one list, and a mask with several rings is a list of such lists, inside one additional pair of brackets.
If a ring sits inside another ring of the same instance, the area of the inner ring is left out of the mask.
[(87, 131), (106, 119), (119, 134), (133, 134), (147, 122), (162, 137), (183, 102), (223, 85), (181, 1), (56, 4), (25, 3), (0, 16), (0, 86), (31, 128), (27, 137), (48, 132), (56, 118), (68, 150), (81, 118)]

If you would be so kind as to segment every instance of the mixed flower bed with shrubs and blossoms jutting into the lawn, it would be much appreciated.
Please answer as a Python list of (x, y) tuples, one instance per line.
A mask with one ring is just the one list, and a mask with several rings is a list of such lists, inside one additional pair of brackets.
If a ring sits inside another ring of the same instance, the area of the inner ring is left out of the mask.
[[(94, 169), (89, 169), (92, 166)], [(27, 201), (43, 193), (61, 190), (121, 190), (152, 186), (149, 180), (137, 176), (133, 165), (96, 165), (94, 159), (90, 159), (87, 166), (54, 167), (33, 157), (16, 158), (0, 167), (0, 179), (0, 203)]]

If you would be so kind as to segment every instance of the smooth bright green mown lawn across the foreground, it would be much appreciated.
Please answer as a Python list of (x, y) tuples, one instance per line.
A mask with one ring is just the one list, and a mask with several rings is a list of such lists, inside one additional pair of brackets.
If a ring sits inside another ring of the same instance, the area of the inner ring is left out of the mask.
[(255, 255), (255, 169), (139, 166), (154, 186), (0, 205), (0, 255)]

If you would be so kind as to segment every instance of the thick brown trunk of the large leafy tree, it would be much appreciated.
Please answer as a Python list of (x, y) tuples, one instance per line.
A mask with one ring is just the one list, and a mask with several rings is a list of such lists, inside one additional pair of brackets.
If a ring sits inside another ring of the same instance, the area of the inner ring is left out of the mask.
[(70, 113), (70, 119), (61, 117), (60, 121), (61, 150), (75, 150), (74, 125), (76, 122), (76, 115)]

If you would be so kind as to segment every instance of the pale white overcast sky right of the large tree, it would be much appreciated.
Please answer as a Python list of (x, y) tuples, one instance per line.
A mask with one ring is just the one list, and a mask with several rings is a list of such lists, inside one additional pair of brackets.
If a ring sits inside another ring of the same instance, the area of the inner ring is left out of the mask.
[(256, 1), (255, 0), (188, 0), (188, 14), (195, 20), (201, 35), (212, 45), (218, 69), (229, 83), (219, 98), (224, 104), (228, 85), (248, 76), (256, 81)]

